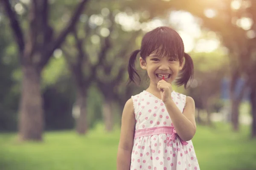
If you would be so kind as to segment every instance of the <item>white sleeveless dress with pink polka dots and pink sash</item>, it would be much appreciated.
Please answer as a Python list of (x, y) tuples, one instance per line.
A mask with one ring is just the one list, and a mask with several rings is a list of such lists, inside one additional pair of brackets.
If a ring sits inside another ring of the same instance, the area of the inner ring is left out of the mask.
[[(183, 112), (186, 96), (172, 92)], [(200, 170), (192, 141), (177, 136), (162, 100), (143, 91), (132, 96), (136, 127), (131, 170)]]

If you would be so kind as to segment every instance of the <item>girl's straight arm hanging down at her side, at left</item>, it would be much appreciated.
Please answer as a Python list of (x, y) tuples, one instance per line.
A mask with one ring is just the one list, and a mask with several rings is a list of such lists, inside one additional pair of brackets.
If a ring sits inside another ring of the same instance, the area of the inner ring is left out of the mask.
[(130, 170), (133, 148), (135, 116), (132, 99), (125, 103), (122, 113), (121, 134), (117, 152), (117, 170)]

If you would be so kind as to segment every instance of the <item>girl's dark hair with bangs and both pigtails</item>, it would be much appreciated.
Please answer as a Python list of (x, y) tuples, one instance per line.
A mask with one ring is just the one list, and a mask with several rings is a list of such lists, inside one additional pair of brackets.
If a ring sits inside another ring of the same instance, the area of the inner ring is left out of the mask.
[(189, 54), (184, 52), (184, 44), (180, 35), (172, 28), (166, 26), (157, 27), (146, 33), (142, 39), (141, 48), (139, 50), (135, 50), (131, 54), (128, 64), (128, 83), (136, 83), (134, 74), (136, 74), (137, 78), (140, 80), (140, 76), (137, 73), (134, 64), (137, 54), (140, 52), (140, 56), (145, 59), (154, 51), (159, 55), (175, 57), (180, 61), (180, 64), (183, 62), (183, 57), (185, 58), (185, 64), (178, 75), (176, 83), (179, 86), (184, 85), (184, 87), (187, 88), (194, 74), (192, 58)]

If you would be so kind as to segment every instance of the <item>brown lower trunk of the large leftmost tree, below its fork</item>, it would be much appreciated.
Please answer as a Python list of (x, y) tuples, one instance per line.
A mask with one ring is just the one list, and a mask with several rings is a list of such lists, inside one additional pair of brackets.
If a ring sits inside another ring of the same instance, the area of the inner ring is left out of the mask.
[(20, 100), (20, 138), (42, 140), (44, 117), (41, 97), (41, 72), (32, 65), (23, 66)]

